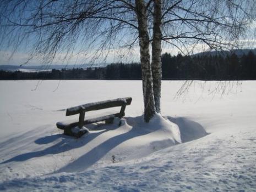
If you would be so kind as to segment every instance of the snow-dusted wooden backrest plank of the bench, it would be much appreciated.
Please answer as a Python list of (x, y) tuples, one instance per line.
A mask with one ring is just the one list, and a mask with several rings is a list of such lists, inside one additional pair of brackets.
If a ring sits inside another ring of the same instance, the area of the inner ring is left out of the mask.
[(105, 100), (105, 101), (98, 101), (95, 103), (78, 105), (72, 108), (68, 108), (66, 111), (66, 116), (80, 114), (81, 111), (86, 112), (86, 111), (113, 108), (115, 106), (130, 105), (131, 102), (132, 102), (132, 98), (126, 97), (126, 98), (111, 99), (111, 100)]

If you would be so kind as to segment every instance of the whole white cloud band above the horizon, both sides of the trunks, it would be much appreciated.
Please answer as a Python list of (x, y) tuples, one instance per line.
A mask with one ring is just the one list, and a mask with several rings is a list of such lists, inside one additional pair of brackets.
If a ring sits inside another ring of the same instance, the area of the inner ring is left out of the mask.
[[(232, 43), (232, 42), (231, 42)], [(256, 39), (240, 39), (237, 42), (239, 48), (256, 48)], [(203, 43), (189, 44), (187, 47), (178, 49), (175, 46), (169, 46), (166, 43), (162, 44), (162, 53), (171, 53), (177, 55), (178, 53), (199, 53), (209, 50), (208, 46)], [(11, 51), (0, 51), (0, 65), (21, 65), (28, 61), (30, 55), (23, 52), (15, 52), (12, 54)], [(139, 47), (133, 49), (121, 48), (121, 49), (110, 49), (102, 50), (102, 52), (85, 52), (81, 51), (78, 53), (68, 54), (57, 53), (52, 64), (90, 64), (90, 63), (130, 63), (139, 62), (140, 53)], [(29, 60), (30, 65), (40, 65), (43, 63), (43, 56), (36, 56)]]

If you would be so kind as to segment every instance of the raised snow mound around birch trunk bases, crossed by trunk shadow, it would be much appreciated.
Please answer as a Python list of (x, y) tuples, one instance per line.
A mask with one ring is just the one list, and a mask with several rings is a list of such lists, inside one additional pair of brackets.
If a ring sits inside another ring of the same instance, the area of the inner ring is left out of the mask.
[[(118, 118), (114, 125), (119, 125)], [(93, 132), (93, 131), (92, 131)], [(86, 137), (83, 139), (86, 140)], [(99, 167), (145, 157), (157, 150), (181, 143), (181, 134), (175, 123), (156, 114), (149, 123), (143, 116), (121, 120), (121, 126), (99, 135), (87, 145), (85, 153), (57, 172), (84, 171), (91, 166)]]

